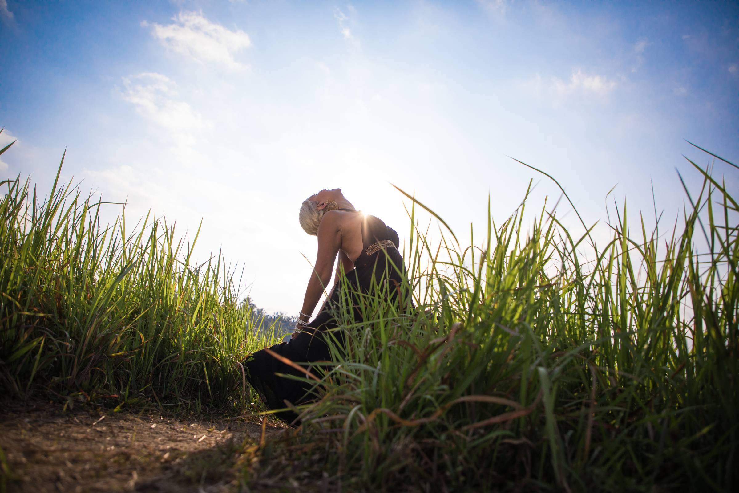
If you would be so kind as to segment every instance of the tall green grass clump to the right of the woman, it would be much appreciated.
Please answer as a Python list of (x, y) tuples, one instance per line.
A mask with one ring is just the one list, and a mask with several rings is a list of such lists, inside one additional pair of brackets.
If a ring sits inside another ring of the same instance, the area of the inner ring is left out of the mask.
[(624, 204), (605, 245), (524, 200), (503, 224), (488, 207), (483, 248), (432, 246), (414, 201), (417, 308), (337, 311), (350, 355), (283, 446), (347, 490), (736, 487), (739, 206), (691, 164), (682, 225), (633, 234)]

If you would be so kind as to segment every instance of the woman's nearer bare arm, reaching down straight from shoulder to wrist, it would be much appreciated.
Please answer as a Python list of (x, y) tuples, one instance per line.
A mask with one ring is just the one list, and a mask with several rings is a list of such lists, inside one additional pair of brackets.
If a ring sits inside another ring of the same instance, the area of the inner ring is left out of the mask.
[[(336, 259), (338, 249), (341, 247), (341, 231), (338, 228), (338, 214), (329, 211), (324, 214), (319, 226), (319, 252), (316, 258), (316, 265), (313, 273), (308, 279), (308, 286), (305, 289), (305, 298), (303, 299), (302, 313), (310, 315), (316, 308), (321, 299), (324, 288), (331, 280), (331, 271), (333, 270), (333, 262)], [(308, 317), (300, 316), (304, 322)]]

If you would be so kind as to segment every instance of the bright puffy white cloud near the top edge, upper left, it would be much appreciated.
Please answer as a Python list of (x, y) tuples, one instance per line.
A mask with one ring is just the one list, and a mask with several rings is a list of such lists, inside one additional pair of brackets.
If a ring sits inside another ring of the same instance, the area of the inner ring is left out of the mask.
[(174, 24), (167, 26), (147, 21), (141, 25), (151, 26), (151, 34), (165, 47), (194, 61), (222, 64), (229, 69), (245, 67), (234, 58), (236, 52), (251, 46), (251, 39), (244, 31), (228, 30), (208, 21), (199, 12), (180, 12), (172, 20)]

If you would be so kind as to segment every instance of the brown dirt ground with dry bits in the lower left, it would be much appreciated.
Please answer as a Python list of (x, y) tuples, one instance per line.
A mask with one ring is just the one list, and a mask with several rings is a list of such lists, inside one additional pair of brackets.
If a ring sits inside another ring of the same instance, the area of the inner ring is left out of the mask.
[[(266, 424), (265, 437), (282, 429)], [(9, 492), (238, 491), (235, 460), (261, 435), (258, 418), (63, 411), (44, 402), (0, 409)]]

